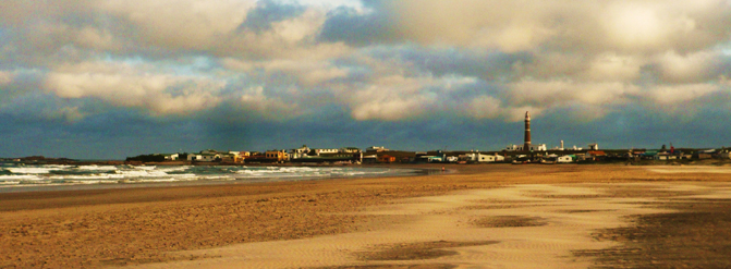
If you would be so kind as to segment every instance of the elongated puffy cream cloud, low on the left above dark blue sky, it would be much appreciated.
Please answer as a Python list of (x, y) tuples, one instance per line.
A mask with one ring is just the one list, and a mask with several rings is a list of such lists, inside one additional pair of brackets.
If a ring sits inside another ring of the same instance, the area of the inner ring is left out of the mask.
[(187, 114), (221, 102), (226, 82), (148, 73), (150, 66), (84, 63), (47, 75), (46, 88), (61, 98), (97, 98), (112, 106), (145, 108), (159, 114)]

